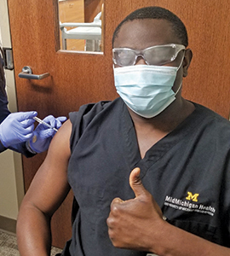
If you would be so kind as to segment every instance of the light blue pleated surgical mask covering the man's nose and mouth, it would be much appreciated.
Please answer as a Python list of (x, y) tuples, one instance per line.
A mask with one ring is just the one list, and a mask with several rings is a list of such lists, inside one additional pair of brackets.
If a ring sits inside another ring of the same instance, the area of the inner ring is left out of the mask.
[(152, 118), (175, 101), (182, 82), (176, 92), (172, 87), (180, 67), (135, 65), (113, 68), (117, 92), (133, 112)]

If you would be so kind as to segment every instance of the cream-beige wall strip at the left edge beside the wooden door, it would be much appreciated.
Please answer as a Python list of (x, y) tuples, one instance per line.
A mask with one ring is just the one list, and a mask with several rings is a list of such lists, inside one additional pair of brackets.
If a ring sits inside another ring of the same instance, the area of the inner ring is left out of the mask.
[[(0, 42), (11, 48), (7, 0), (0, 0)], [(9, 110), (17, 111), (14, 70), (5, 70)], [(24, 195), (21, 155), (7, 150), (0, 154), (0, 216), (16, 219)]]

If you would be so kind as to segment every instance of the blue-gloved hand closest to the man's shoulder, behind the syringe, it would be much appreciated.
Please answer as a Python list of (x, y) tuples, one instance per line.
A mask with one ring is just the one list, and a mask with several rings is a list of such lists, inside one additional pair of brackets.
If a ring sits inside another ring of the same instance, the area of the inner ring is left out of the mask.
[[(43, 119), (52, 127), (59, 129), (63, 122), (66, 121), (66, 117), (58, 117), (55, 119), (53, 115), (47, 116)], [(33, 132), (33, 137), (30, 139), (29, 145), (32, 151), (41, 153), (49, 148), (49, 143), (55, 136), (56, 131), (47, 127), (46, 125), (39, 124)]]

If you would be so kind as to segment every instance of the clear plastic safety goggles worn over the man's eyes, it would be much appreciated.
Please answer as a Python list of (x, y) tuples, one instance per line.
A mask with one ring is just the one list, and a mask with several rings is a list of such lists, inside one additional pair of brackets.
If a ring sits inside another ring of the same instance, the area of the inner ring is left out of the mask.
[(141, 50), (113, 48), (112, 61), (120, 67), (133, 66), (137, 57), (141, 56), (147, 65), (161, 66), (174, 61), (182, 49), (186, 49), (186, 47), (181, 44), (155, 45)]

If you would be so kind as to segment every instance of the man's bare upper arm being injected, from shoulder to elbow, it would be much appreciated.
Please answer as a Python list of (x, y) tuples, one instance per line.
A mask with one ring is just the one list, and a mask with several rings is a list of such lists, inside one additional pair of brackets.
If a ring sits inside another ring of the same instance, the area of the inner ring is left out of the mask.
[(70, 158), (72, 124), (66, 121), (49, 145), (49, 151), (38, 169), (22, 202), (22, 207), (36, 207), (51, 216), (69, 192), (67, 166)]

